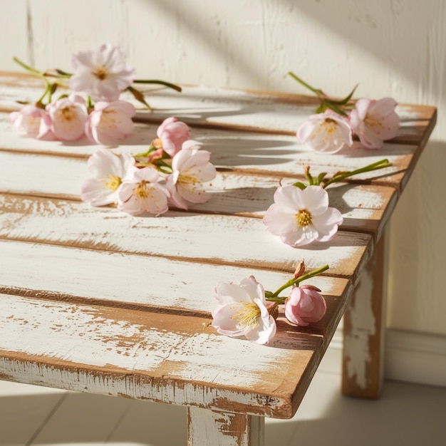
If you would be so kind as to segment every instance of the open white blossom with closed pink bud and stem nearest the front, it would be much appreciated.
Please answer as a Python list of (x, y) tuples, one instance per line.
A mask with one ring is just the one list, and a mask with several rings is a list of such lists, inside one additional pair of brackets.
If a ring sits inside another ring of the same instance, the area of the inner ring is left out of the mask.
[[(308, 326), (321, 320), (326, 313), (326, 301), (320, 289), (312, 285), (299, 285), (301, 281), (321, 274), (328, 265), (304, 274), (301, 261), (294, 277), (274, 293), (265, 291), (254, 276), (243, 279), (239, 285), (220, 281), (215, 289), (217, 307), (212, 311), (212, 326), (217, 332), (234, 338), (245, 337), (254, 343), (264, 344), (276, 334), (279, 306), (284, 306), (284, 318), (294, 326)], [(289, 296), (280, 297), (291, 286)]]

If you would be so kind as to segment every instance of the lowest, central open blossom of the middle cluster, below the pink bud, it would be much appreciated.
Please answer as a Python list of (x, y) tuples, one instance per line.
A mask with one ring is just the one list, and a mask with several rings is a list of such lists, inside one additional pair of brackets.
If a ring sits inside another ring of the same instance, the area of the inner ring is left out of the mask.
[(153, 167), (138, 169), (130, 166), (118, 190), (118, 209), (132, 215), (167, 212), (170, 193), (157, 182), (158, 177), (158, 171)]

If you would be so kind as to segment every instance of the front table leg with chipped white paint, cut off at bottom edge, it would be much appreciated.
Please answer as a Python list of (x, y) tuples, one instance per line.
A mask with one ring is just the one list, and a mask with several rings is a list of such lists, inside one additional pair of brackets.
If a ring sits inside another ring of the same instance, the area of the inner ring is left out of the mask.
[(242, 413), (187, 408), (188, 446), (264, 446), (265, 419)]

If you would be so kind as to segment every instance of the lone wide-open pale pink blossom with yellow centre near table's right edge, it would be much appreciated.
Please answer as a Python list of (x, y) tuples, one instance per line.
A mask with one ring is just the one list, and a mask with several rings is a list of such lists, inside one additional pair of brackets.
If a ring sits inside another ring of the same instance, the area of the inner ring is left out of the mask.
[(328, 194), (322, 187), (301, 190), (293, 185), (277, 188), (263, 219), (271, 234), (292, 247), (328, 241), (342, 221), (341, 212), (328, 207)]

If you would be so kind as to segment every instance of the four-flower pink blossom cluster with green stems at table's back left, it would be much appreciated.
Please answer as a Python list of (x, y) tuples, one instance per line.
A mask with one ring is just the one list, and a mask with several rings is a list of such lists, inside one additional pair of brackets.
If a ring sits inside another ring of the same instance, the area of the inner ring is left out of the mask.
[[(76, 141), (86, 135), (91, 142), (112, 145), (133, 133), (136, 110), (133, 104), (120, 100), (120, 94), (128, 90), (148, 107), (142, 93), (131, 86), (133, 83), (161, 83), (181, 90), (164, 81), (136, 80), (135, 68), (125, 65), (123, 51), (110, 44), (100, 46), (98, 52), (74, 53), (74, 73), (41, 72), (17, 58), (14, 60), (46, 83), (46, 90), (36, 103), (11, 113), (17, 133), (40, 140)], [(75, 93), (62, 94), (53, 100), (58, 86), (66, 80)]]

